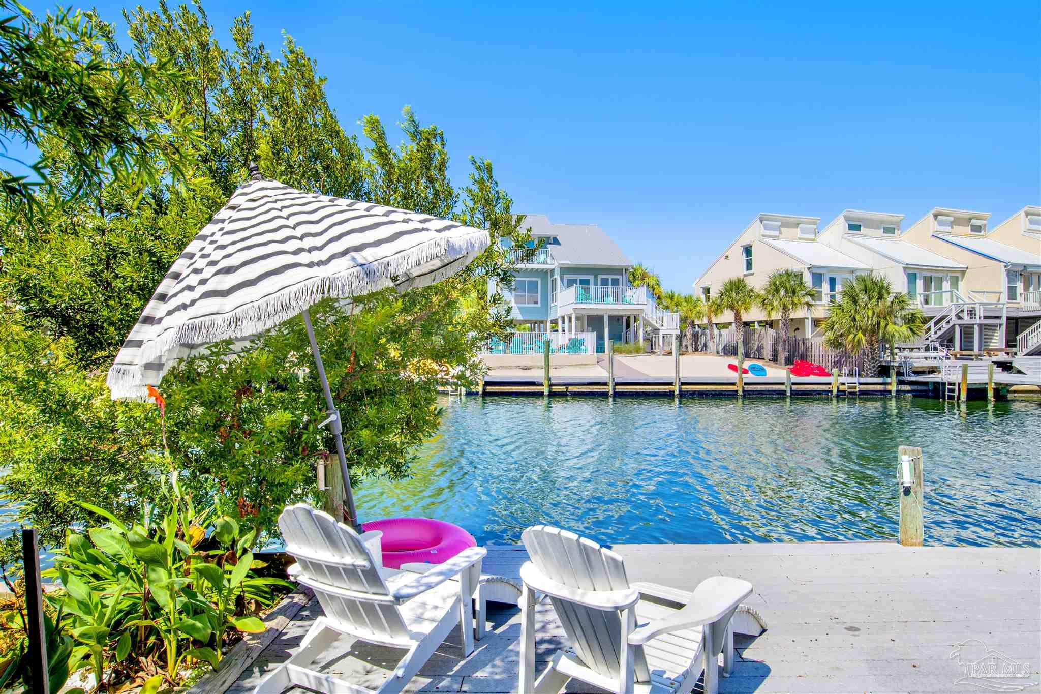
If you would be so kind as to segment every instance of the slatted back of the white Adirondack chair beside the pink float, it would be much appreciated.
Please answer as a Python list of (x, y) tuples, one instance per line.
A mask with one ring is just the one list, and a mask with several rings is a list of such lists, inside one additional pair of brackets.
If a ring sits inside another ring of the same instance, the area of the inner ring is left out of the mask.
[(398, 606), (339, 594), (390, 594), (377, 562), (357, 533), (306, 504), (287, 507), (278, 517), (278, 526), (285, 539), (285, 550), (300, 567), (297, 577), (314, 591), (326, 617), (354, 634), (391, 640), (409, 638)]

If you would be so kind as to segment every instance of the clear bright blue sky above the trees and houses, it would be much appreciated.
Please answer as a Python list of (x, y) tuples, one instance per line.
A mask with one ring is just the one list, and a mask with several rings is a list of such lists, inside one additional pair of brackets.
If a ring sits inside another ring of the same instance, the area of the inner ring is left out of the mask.
[(225, 43), (247, 9), (273, 52), (291, 34), (345, 127), (411, 105), (457, 185), (487, 157), (516, 211), (599, 224), (666, 288), (761, 211), (1041, 203), (1037, 2), (484, 4), (206, 10)]

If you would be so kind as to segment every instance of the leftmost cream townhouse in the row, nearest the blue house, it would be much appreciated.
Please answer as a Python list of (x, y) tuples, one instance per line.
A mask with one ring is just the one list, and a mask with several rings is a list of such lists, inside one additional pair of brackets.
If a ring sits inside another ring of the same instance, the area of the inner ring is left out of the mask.
[[(818, 238), (818, 222), (817, 216), (757, 214), (694, 282), (694, 291), (711, 300), (732, 277), (743, 277), (752, 286), (762, 289), (770, 273), (796, 269), (814, 289), (814, 306), (792, 314), (789, 330), (798, 337), (812, 336), (827, 315), (828, 302), (857, 273), (870, 271), (865, 262), (822, 243)], [(730, 323), (729, 317), (719, 315), (716, 322)], [(742, 317), (745, 323), (766, 323), (775, 330), (780, 329), (780, 317), (768, 316), (759, 307)]]

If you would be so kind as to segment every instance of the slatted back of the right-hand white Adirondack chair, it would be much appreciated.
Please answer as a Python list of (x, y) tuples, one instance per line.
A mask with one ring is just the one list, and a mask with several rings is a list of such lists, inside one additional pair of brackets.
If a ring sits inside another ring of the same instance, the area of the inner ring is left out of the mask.
[[(532, 563), (549, 579), (582, 590), (629, 588), (621, 557), (592, 540), (549, 525), (524, 532), (523, 541)], [(621, 614), (598, 610), (572, 600), (551, 597), (564, 633), (586, 667), (616, 679), (620, 669)], [(646, 659), (637, 648), (636, 682), (648, 682)]]

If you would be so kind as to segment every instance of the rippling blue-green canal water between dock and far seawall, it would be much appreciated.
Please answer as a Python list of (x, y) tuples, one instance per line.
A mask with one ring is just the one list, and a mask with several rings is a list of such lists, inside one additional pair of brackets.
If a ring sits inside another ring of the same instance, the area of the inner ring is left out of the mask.
[(1041, 544), (1041, 404), (471, 397), (413, 478), (361, 518), (420, 515), (479, 543), (544, 522), (610, 543), (871, 540), (898, 533), (897, 446), (924, 456), (928, 544)]

